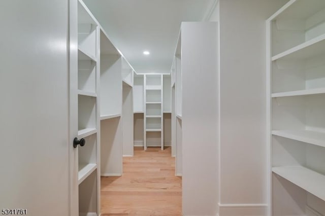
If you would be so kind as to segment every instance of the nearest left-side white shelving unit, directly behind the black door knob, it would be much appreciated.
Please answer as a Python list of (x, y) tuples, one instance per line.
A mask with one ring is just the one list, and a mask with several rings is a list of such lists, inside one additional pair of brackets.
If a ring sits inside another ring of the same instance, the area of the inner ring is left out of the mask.
[(78, 1), (78, 151), (79, 215), (100, 214), (99, 25)]

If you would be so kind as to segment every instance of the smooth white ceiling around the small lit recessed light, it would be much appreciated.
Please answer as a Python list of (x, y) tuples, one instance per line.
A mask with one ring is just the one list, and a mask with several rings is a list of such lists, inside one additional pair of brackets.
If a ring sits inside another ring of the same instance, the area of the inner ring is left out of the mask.
[[(138, 73), (168, 73), (182, 21), (202, 21), (215, 0), (84, 0)], [(148, 50), (150, 55), (143, 55)]]

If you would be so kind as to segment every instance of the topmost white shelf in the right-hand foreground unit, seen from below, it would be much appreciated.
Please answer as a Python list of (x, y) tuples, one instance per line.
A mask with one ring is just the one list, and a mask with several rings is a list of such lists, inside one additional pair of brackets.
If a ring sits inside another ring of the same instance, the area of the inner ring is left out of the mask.
[(272, 61), (280, 58), (285, 59), (307, 59), (315, 55), (325, 53), (325, 34), (310, 41), (300, 44), (272, 57)]

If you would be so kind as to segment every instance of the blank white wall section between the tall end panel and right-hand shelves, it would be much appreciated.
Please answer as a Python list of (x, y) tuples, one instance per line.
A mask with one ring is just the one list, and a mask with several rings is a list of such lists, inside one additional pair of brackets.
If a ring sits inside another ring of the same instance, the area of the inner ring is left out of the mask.
[(286, 2), (219, 3), (220, 216), (266, 215), (265, 21)]

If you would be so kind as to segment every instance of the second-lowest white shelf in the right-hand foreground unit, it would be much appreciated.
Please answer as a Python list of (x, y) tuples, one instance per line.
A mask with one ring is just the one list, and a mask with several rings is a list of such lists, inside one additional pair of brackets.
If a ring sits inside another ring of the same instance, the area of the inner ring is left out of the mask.
[(325, 133), (311, 130), (273, 130), (273, 135), (325, 147)]

